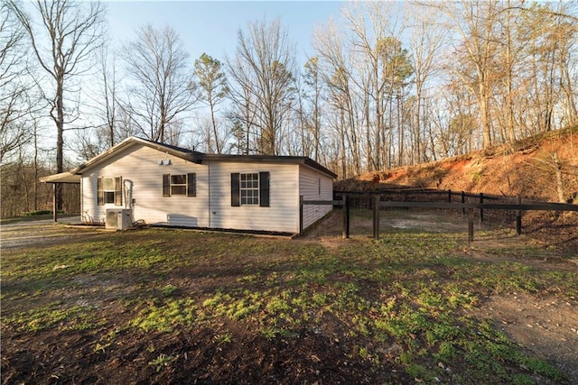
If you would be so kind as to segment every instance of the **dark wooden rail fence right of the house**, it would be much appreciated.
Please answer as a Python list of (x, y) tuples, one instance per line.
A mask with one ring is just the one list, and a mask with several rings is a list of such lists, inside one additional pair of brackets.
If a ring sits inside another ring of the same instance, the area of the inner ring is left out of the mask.
[[(447, 197), (447, 201), (415, 201), (409, 200), (411, 194), (414, 195), (439, 195)], [(402, 200), (382, 200), (385, 196), (391, 194), (401, 194), (403, 196)], [(516, 234), (522, 234), (522, 215), (528, 210), (541, 210), (541, 211), (574, 211), (578, 212), (578, 205), (572, 204), (561, 204), (561, 203), (551, 203), (551, 202), (539, 202), (533, 200), (522, 199), (522, 197), (499, 197), (480, 194), (471, 194), (461, 191), (459, 193), (453, 192), (452, 190), (394, 190), (379, 193), (363, 193), (355, 191), (336, 191), (336, 197), (341, 197), (340, 199), (333, 200), (303, 200), (300, 199), (300, 213), (302, 218), (300, 218), (300, 235), (303, 235), (303, 206), (305, 205), (331, 205), (337, 207), (343, 207), (343, 226), (342, 226), (342, 236), (343, 238), (350, 237), (350, 208), (351, 208), (351, 197), (368, 197), (371, 200), (371, 209), (373, 216), (373, 237), (379, 239), (379, 209), (381, 207), (397, 207), (397, 208), (445, 208), (461, 210), (461, 213), (468, 215), (468, 242), (473, 242), (474, 239), (474, 212), (479, 213), (480, 222), (484, 220), (484, 210), (514, 210), (516, 212)], [(459, 197), (459, 201), (454, 197)], [(476, 202), (467, 202), (466, 197), (474, 197)], [(508, 203), (496, 203), (498, 200), (507, 199)]]

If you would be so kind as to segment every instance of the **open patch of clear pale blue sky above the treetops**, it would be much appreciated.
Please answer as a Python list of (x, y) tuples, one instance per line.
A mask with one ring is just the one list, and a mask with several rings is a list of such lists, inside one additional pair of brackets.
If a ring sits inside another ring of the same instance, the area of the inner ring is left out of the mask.
[[(316, 26), (330, 17), (339, 18), (337, 1), (109, 1), (106, 2), (108, 31), (115, 46), (135, 38), (135, 29), (145, 23), (161, 27), (168, 23), (177, 31), (191, 60), (202, 52), (218, 60), (234, 56), (239, 28), (247, 23), (280, 17), (289, 39), (303, 59), (312, 53)], [(302, 61), (303, 60), (299, 60)]]

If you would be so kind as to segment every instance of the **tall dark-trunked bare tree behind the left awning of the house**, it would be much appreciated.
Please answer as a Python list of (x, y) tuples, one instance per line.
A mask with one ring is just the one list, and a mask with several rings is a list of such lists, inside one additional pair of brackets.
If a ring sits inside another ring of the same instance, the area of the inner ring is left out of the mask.
[[(51, 80), (50, 88), (41, 86), (56, 125), (56, 171), (62, 172), (65, 124), (74, 119), (70, 115), (72, 108), (65, 107), (67, 93), (71, 92), (72, 81), (89, 69), (92, 53), (102, 43), (104, 9), (98, 2), (37, 0), (33, 14), (41, 23), (34, 23), (23, 6), (15, 0), (6, 1), (30, 38), (40, 67)], [(61, 188), (57, 186), (56, 208), (61, 209)]]

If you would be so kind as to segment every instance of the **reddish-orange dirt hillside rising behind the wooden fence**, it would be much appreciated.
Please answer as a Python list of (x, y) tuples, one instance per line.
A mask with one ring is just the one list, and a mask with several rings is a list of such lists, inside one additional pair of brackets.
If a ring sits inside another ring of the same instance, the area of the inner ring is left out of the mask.
[[(564, 200), (578, 197), (578, 167), (575, 129), (545, 133), (542, 138), (527, 138), (516, 145), (505, 144), (490, 151), (472, 151), (465, 155), (387, 171), (372, 171), (336, 182), (340, 191), (376, 191), (387, 188), (439, 188), (496, 196), (559, 202), (558, 188)], [(562, 183), (558, 185), (552, 154), (564, 164)]]

